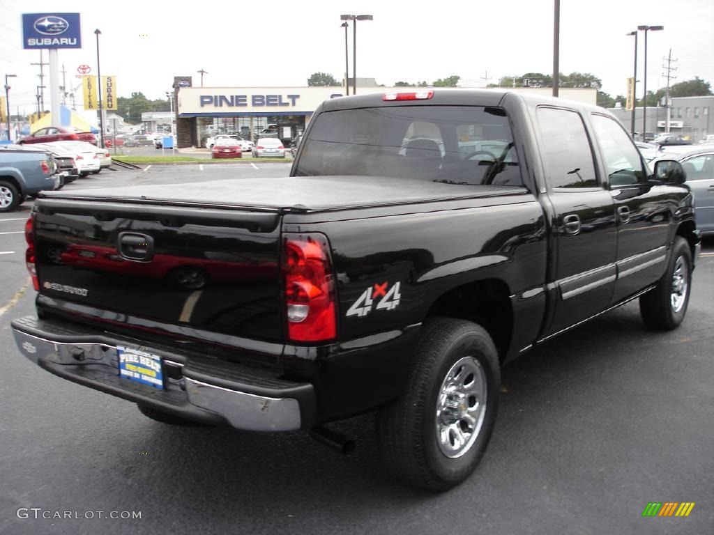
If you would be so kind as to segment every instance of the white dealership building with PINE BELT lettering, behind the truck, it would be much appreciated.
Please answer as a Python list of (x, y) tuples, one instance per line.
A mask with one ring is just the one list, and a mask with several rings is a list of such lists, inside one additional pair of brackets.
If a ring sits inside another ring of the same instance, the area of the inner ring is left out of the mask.
[[(313, 112), (330, 98), (345, 95), (343, 87), (193, 87), (190, 76), (174, 78), (176, 90), (176, 144), (203, 147), (218, 133), (235, 133), (253, 141), (278, 137), (286, 146), (304, 131)], [(359, 87), (358, 94), (413, 91), (406, 87)], [(550, 88), (514, 88), (550, 94)], [(595, 103), (590, 88), (560, 89), (560, 97)]]

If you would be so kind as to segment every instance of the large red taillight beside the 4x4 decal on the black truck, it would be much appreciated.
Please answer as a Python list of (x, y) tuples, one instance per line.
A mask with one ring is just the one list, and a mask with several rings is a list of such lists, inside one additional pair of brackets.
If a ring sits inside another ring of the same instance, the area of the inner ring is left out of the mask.
[(286, 234), (283, 277), (288, 338), (293, 342), (323, 342), (335, 338), (335, 277), (325, 235)]

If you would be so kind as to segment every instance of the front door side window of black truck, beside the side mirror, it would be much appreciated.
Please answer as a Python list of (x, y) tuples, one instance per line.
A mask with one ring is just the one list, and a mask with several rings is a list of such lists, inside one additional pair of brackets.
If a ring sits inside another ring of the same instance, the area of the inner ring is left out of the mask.
[(593, 128), (605, 159), (610, 188), (645, 183), (647, 173), (642, 158), (630, 139), (613, 118), (593, 114)]

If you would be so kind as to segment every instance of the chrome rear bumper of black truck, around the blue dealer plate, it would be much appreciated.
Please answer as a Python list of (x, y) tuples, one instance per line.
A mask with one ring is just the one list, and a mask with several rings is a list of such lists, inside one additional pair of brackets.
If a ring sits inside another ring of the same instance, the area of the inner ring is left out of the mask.
[(261, 377), (229, 362), (192, 363), (156, 350), (165, 377), (164, 389), (156, 389), (119, 376), (116, 346), (131, 346), (132, 342), (119, 338), (85, 341), (106, 339), (107, 335), (73, 333), (66, 330), (66, 324), (34, 317), (14, 320), (12, 327), (22, 354), (36, 365), (116, 397), (236, 429), (281, 432), (311, 426), (314, 391), (309, 383)]

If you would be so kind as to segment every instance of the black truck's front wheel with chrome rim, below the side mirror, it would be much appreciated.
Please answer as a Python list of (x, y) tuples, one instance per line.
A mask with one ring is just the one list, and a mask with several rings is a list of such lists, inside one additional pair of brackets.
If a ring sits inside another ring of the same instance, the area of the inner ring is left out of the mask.
[[(676, 277), (675, 272), (680, 277)], [(691, 289), (692, 251), (687, 240), (675, 236), (667, 270), (653, 290), (640, 296), (640, 315), (645, 325), (663, 331), (679, 327), (687, 313)], [(683, 300), (676, 300), (675, 293)]]

